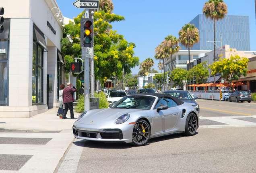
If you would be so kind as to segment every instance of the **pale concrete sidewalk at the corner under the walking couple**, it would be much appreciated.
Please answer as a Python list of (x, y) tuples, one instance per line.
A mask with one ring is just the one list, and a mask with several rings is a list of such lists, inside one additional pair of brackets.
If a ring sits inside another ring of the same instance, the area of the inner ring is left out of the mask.
[[(29, 131), (63, 131), (71, 130), (76, 119), (70, 119), (70, 111), (66, 117), (60, 119), (56, 116), (58, 108), (49, 109), (45, 113), (35, 115), (30, 118), (0, 118), (0, 129), (29, 130)], [(80, 113), (74, 112), (74, 117), (78, 118)]]

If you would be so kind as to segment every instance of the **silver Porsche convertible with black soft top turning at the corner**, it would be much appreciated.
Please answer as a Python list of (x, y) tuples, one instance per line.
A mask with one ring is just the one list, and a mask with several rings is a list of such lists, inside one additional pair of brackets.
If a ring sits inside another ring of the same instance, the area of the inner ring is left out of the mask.
[(81, 113), (73, 133), (78, 139), (141, 146), (163, 135), (191, 136), (198, 127), (198, 112), (188, 103), (171, 95), (141, 93), (123, 97), (110, 108)]

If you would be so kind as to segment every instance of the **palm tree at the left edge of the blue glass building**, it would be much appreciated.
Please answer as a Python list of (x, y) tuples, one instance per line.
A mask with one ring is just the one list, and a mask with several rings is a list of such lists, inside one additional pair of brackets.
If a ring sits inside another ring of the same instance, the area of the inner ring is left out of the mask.
[(190, 70), (190, 48), (199, 42), (199, 30), (194, 25), (186, 24), (185, 26), (182, 26), (182, 29), (178, 34), (180, 36), (180, 43), (188, 48), (188, 70)]

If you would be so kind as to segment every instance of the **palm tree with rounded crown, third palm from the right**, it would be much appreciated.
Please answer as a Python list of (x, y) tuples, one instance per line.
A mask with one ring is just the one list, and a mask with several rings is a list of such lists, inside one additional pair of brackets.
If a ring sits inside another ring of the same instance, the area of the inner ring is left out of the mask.
[(165, 51), (171, 55), (171, 71), (173, 70), (172, 55), (180, 51), (179, 40), (173, 35), (168, 35), (163, 41)]

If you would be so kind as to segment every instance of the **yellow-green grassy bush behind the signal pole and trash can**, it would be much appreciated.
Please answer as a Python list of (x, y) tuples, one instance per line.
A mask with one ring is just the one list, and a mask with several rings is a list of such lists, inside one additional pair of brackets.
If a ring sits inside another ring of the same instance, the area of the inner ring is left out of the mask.
[[(106, 95), (101, 91), (94, 93), (94, 97), (99, 98), (99, 109), (108, 108), (109, 103), (107, 102)], [(82, 113), (85, 110), (85, 97), (79, 95), (78, 103), (76, 105), (76, 112)]]

